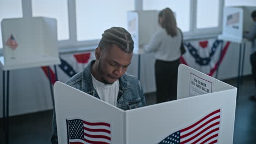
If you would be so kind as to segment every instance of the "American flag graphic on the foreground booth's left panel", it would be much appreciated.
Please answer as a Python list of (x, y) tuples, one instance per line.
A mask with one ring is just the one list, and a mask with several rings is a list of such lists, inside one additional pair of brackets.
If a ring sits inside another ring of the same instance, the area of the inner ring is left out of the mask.
[(87, 122), (82, 119), (66, 119), (69, 144), (109, 144), (111, 127), (105, 122)]

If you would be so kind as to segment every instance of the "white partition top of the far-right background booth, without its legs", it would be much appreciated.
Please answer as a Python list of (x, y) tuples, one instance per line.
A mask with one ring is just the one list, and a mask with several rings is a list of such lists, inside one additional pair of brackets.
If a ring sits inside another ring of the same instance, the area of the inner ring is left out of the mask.
[(253, 24), (251, 13), (256, 7), (225, 7), (223, 15), (223, 33), (219, 39), (242, 43), (243, 32), (249, 31)]

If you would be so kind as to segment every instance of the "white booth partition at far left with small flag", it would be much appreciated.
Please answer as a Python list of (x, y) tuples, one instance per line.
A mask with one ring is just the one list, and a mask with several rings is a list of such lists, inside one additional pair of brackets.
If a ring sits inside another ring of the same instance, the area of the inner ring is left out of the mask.
[[(48, 17), (3, 19), (1, 22), (4, 70), (59, 64), (57, 24)], [(11, 49), (8, 40), (18, 44)]]

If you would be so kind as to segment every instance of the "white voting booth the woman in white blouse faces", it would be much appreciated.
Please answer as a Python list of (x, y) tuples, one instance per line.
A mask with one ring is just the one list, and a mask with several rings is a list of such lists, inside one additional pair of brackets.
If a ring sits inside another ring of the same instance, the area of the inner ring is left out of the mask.
[(158, 10), (127, 11), (127, 30), (134, 41), (134, 51), (140, 45), (146, 45), (159, 30)]

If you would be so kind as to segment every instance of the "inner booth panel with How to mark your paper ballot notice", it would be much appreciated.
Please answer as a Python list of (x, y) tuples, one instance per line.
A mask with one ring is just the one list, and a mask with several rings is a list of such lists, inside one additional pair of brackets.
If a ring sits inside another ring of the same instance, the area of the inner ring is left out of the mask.
[[(186, 82), (185, 82), (186, 81)], [(178, 69), (177, 99), (223, 92), (236, 88), (183, 64)], [(232, 97), (235, 97), (232, 96)]]

